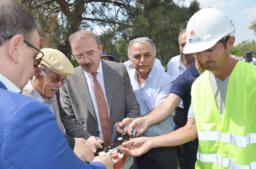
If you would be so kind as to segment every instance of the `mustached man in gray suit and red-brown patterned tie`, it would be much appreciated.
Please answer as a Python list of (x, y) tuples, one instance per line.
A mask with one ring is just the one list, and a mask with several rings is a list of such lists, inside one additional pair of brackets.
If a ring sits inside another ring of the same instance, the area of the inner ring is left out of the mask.
[[(116, 122), (140, 115), (129, 75), (124, 65), (100, 59), (103, 46), (91, 31), (72, 34), (70, 44), (80, 66), (60, 88), (61, 120), (68, 135), (85, 138), (96, 149), (103, 141), (108, 146)], [(101, 96), (95, 93), (98, 90)]]

